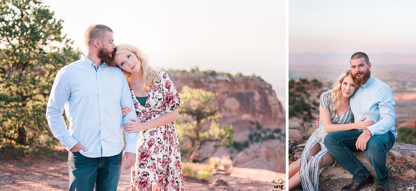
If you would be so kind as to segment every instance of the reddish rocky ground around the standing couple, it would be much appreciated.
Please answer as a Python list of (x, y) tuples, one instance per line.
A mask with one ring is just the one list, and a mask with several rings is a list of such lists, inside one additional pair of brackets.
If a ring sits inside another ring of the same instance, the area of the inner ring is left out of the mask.
[[(1, 191), (64, 191), (68, 189), (67, 155), (62, 153), (51, 158), (25, 158), (15, 161), (0, 161), (0, 190)], [(192, 164), (193, 168), (203, 169), (206, 164)], [(124, 167), (124, 165), (123, 165)], [(233, 168), (229, 176), (217, 174), (208, 182), (185, 177), (186, 191), (266, 191), (276, 189), (281, 185), (272, 183), (273, 180), (285, 180), (282, 173), (264, 169)], [(119, 191), (130, 190), (130, 171), (122, 169)]]

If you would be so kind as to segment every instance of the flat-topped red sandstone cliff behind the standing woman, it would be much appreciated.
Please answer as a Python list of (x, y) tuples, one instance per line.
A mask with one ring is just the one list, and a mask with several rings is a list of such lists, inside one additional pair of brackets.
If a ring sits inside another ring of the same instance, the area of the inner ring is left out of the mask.
[[(223, 117), (257, 121), (275, 128), (285, 122), (282, 103), (267, 82), (248, 77), (224, 77), (203, 74), (169, 74), (178, 92), (188, 85), (218, 94), (217, 104)], [(285, 128), (281, 128), (282, 132)]]

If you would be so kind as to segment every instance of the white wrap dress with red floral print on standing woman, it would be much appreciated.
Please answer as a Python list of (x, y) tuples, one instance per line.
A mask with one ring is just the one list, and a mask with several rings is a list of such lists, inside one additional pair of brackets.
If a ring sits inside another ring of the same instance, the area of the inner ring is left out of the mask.
[[(150, 89), (143, 107), (134, 100), (137, 119), (147, 122), (183, 104), (168, 74), (158, 73), (155, 87)], [(137, 142), (136, 164), (131, 168), (131, 191), (183, 191), (181, 151), (175, 122), (141, 132)]]

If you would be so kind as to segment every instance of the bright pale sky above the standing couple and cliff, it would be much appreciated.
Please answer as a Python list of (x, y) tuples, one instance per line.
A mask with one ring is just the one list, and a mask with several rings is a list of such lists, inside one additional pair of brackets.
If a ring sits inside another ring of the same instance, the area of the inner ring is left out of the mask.
[(81, 50), (87, 27), (104, 24), (155, 67), (254, 73), (285, 95), (285, 0), (44, 2)]

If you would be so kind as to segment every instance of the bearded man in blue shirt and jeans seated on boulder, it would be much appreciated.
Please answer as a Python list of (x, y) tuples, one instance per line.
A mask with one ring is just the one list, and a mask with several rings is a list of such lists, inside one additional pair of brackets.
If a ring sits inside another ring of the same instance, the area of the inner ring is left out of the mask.
[(396, 112), (391, 88), (371, 76), (371, 63), (363, 52), (354, 53), (350, 59), (354, 82), (359, 88), (350, 97), (354, 119), (365, 118), (375, 124), (363, 130), (332, 131), (325, 136), (324, 144), (332, 156), (351, 173), (352, 183), (342, 191), (358, 191), (371, 186), (370, 172), (354, 156), (353, 152), (364, 151), (376, 173), (376, 191), (389, 190), (389, 171), (386, 167), (386, 152), (393, 147), (397, 131)]

